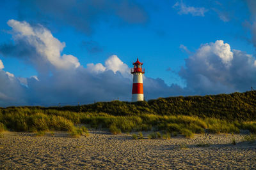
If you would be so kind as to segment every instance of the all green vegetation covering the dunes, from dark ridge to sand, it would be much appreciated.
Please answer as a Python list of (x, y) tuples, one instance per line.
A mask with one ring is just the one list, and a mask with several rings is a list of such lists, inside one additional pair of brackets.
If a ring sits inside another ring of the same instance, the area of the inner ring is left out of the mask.
[[(107, 128), (113, 134), (131, 131), (161, 131), (150, 138), (169, 138), (195, 133), (256, 133), (256, 92), (216, 96), (168, 97), (148, 102), (100, 102), (83, 106), (44, 108), (22, 106), (0, 108), (0, 131), (68, 131), (81, 136), (76, 128), (86, 124)], [(166, 134), (166, 135), (164, 135)]]

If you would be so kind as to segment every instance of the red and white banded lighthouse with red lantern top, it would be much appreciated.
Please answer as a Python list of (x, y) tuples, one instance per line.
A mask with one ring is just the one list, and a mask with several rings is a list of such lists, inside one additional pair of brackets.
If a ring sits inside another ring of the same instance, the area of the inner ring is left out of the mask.
[(143, 62), (140, 62), (137, 58), (131, 69), (131, 73), (133, 74), (132, 101), (144, 101), (142, 74), (145, 73), (145, 69), (142, 68), (142, 64)]

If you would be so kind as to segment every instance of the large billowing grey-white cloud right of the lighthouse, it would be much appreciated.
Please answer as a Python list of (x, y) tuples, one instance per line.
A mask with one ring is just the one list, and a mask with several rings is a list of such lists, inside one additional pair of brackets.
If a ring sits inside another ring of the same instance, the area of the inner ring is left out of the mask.
[(255, 59), (218, 40), (207, 43), (186, 59), (179, 72), (191, 94), (243, 92), (256, 86)]

